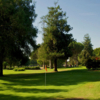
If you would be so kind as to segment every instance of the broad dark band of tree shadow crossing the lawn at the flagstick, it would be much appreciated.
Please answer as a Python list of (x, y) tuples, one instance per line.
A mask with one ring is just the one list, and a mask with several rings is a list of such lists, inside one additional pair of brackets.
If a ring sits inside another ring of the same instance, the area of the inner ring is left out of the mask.
[[(45, 73), (38, 74), (20, 74), (20, 75), (6, 75), (1, 77), (1, 80), (9, 81), (6, 85), (22, 85), (22, 86), (44, 86)], [(60, 71), (56, 73), (46, 74), (46, 85), (64, 86), (76, 85), (81, 82), (95, 82), (100, 81), (100, 72), (88, 70), (70, 70)]]

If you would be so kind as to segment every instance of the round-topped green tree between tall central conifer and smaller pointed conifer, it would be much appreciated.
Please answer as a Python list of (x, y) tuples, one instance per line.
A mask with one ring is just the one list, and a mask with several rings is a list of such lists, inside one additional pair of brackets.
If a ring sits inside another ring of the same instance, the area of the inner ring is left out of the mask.
[(73, 53), (72, 57), (70, 57), (70, 60), (78, 66), (78, 55), (83, 50), (84, 45), (80, 42), (73, 41), (73, 42), (70, 43), (69, 46), (72, 48), (71, 50), (72, 50), (72, 53)]

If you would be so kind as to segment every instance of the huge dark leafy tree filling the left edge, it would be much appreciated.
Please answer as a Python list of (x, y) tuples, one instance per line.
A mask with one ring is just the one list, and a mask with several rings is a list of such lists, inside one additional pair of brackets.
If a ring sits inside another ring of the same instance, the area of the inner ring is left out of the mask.
[(3, 60), (12, 51), (21, 50), (29, 54), (35, 47), (37, 29), (35, 6), (31, 0), (0, 0), (0, 76), (3, 75)]

